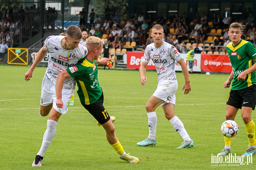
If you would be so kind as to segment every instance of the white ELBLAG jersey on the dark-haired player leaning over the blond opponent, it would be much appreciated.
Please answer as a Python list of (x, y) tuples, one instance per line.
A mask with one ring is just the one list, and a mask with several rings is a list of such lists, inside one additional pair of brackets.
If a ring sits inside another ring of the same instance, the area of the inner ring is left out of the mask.
[[(79, 44), (74, 50), (65, 50), (61, 46), (62, 35), (49, 36), (44, 41), (44, 49), (49, 51), (48, 67), (45, 76), (51, 82), (56, 83), (57, 75), (68, 67), (74, 66), (80, 59), (84, 58), (88, 50), (85, 46)], [(67, 89), (74, 88), (75, 78), (65, 78), (63, 87)]]

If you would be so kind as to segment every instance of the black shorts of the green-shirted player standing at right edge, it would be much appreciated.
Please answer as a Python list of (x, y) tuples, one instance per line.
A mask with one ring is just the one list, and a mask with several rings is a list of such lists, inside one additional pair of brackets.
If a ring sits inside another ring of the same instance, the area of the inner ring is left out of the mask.
[(251, 107), (254, 110), (256, 105), (256, 84), (241, 90), (230, 90), (227, 105), (238, 109)]

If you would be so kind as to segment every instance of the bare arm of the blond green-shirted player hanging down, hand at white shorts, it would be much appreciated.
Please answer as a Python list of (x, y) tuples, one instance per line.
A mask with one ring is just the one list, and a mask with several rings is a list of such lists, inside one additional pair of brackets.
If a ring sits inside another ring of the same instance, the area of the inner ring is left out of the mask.
[(69, 78), (71, 75), (67, 72), (67, 70), (62, 71), (57, 75), (56, 84), (55, 84), (55, 90), (56, 90), (56, 105), (58, 108), (63, 108), (63, 102), (61, 100), (62, 98), (62, 88), (64, 84), (65, 78)]

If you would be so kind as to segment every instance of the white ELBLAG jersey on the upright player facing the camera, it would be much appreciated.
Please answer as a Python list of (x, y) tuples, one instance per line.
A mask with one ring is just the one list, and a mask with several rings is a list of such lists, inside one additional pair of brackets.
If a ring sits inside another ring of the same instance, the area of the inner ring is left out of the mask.
[(148, 44), (142, 62), (148, 63), (150, 58), (155, 64), (158, 83), (165, 80), (176, 80), (175, 61), (179, 62), (182, 58), (178, 50), (167, 42), (156, 48), (154, 43)]

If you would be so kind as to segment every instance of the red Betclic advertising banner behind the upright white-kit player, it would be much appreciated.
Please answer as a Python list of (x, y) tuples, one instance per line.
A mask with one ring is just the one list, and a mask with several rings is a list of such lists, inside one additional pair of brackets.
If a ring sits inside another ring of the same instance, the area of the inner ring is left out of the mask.
[[(140, 69), (144, 52), (127, 52), (127, 69)], [(147, 70), (155, 70), (152, 59), (149, 60)]]

